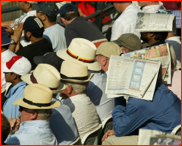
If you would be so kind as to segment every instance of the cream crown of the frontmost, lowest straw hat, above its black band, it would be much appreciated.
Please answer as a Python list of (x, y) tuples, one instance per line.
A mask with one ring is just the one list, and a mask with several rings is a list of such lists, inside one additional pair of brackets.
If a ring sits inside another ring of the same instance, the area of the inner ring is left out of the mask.
[(25, 87), (24, 98), (34, 103), (51, 103), (52, 91), (41, 84), (32, 84)]

